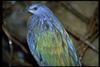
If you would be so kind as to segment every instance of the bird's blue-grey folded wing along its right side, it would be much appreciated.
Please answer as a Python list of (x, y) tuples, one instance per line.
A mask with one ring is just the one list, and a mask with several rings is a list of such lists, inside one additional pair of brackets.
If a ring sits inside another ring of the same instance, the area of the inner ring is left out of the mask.
[(66, 39), (66, 47), (68, 47), (68, 51), (69, 51), (69, 55), (71, 58), (71, 62), (74, 65), (81, 65), (80, 60), (78, 59), (78, 56), (76, 55), (76, 50), (75, 47), (71, 41), (71, 39), (69, 38), (68, 33), (65, 31), (64, 27), (61, 25), (61, 23), (59, 22), (59, 20), (56, 18), (56, 16), (53, 16), (53, 25), (59, 29), (59, 31), (62, 34), (62, 37)]

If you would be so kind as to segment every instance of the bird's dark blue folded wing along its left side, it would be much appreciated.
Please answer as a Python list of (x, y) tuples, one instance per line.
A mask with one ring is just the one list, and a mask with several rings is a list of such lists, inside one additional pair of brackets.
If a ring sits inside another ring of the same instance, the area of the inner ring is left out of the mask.
[(36, 61), (38, 62), (38, 64), (42, 64), (41, 61), (41, 55), (39, 54), (39, 52), (36, 50), (36, 41), (35, 41), (35, 34), (33, 32), (33, 28), (36, 25), (36, 23), (38, 22), (37, 17), (35, 16), (31, 16), (28, 20), (28, 24), (27, 24), (27, 43), (29, 46), (29, 50), (31, 51), (31, 54), (33, 55), (33, 57), (36, 59)]

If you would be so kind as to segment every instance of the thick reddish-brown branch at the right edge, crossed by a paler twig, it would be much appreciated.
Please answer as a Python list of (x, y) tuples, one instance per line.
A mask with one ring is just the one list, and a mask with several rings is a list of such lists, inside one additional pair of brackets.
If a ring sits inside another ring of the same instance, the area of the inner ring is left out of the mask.
[[(92, 42), (98, 36), (98, 27), (96, 27), (96, 23), (98, 23), (97, 20), (98, 20), (98, 7), (96, 8), (93, 16), (91, 17), (90, 24), (88, 27), (88, 32), (83, 36), (85, 38), (85, 40), (88, 39)], [(82, 42), (80, 41), (80, 44), (81, 43)], [(84, 56), (84, 53), (86, 52), (88, 46), (83, 46), (83, 48), (84, 48), (84, 50), (80, 53), (81, 58)]]

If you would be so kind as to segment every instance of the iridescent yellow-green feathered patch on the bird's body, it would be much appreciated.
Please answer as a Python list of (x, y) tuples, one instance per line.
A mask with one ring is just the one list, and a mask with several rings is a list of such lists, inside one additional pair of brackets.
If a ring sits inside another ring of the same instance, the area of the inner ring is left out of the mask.
[[(48, 65), (70, 65), (66, 40), (62, 39), (60, 32), (46, 31), (36, 37), (37, 51), (42, 55)], [(63, 41), (64, 40), (64, 41)]]

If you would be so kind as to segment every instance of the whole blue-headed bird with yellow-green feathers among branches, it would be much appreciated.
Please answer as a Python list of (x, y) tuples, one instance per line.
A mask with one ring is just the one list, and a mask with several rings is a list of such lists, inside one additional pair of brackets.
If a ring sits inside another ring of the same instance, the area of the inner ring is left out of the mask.
[(63, 25), (44, 4), (28, 7), (27, 42), (40, 66), (80, 66), (75, 48)]

